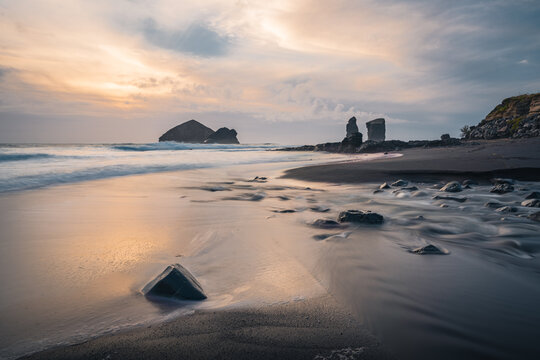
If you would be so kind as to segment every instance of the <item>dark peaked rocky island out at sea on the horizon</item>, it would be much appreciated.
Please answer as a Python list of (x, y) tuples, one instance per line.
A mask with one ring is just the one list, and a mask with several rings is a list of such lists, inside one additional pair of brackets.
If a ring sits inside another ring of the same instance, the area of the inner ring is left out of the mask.
[(159, 141), (176, 141), (195, 144), (239, 144), (237, 132), (226, 127), (214, 131), (197, 120), (189, 120), (167, 130)]

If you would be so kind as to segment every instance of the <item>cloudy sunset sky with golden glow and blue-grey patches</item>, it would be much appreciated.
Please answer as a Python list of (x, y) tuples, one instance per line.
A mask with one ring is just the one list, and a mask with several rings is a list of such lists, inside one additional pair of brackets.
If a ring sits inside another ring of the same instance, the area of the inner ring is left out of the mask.
[(540, 92), (538, 0), (0, 0), (0, 142), (459, 136)]

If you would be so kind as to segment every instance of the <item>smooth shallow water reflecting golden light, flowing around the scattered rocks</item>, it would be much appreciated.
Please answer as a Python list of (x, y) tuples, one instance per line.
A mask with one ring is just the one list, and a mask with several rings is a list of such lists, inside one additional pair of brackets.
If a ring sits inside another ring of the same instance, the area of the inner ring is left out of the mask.
[[(540, 184), (520, 183), (505, 195), (474, 186), (457, 195), (463, 203), (433, 200), (432, 184), (373, 194), (378, 184), (278, 179), (307, 160), (293, 154), (297, 162), (279, 162), (282, 154), (273, 154), (277, 160), (263, 164), (1, 195), (0, 356), (196, 308), (302, 301), (329, 291), (400, 358), (537, 358), (540, 223), (522, 217), (534, 209), (519, 203)], [(268, 180), (249, 181), (256, 175)], [(518, 212), (484, 206), (494, 200)], [(346, 209), (376, 211), (386, 221), (309, 225)], [(425, 244), (449, 254), (410, 252)], [(174, 262), (193, 272), (207, 301), (141, 296)]]

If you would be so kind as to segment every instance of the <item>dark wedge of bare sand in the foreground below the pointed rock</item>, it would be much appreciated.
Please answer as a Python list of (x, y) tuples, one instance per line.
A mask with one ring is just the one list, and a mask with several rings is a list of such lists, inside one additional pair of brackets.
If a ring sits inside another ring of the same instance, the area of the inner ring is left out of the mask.
[(392, 359), (333, 298), (196, 311), (24, 359)]

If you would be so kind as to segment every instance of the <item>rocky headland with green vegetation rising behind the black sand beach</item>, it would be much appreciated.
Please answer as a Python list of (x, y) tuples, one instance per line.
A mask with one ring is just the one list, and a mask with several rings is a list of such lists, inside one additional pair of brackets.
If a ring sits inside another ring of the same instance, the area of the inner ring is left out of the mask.
[(540, 136), (540, 93), (504, 99), (476, 126), (465, 126), (466, 139)]

